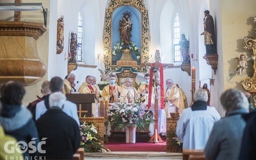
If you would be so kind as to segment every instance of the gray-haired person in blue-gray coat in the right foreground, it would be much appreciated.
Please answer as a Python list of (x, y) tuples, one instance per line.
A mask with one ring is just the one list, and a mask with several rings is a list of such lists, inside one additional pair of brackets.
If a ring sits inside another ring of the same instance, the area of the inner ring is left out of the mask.
[(243, 131), (242, 115), (248, 113), (248, 100), (243, 92), (229, 89), (220, 97), (226, 116), (216, 122), (205, 147), (207, 159), (238, 159)]

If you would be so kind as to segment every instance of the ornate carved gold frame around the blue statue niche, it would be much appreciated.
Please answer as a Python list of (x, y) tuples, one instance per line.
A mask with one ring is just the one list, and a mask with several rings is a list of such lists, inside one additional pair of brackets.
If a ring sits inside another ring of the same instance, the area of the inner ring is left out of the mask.
[(148, 22), (148, 12), (145, 8), (143, 0), (116, 0), (111, 1), (108, 4), (105, 14), (104, 22), (104, 33), (103, 33), (103, 51), (104, 51), (104, 64), (106, 70), (116, 72), (122, 67), (111, 65), (111, 52), (112, 52), (112, 15), (116, 8), (120, 6), (133, 6), (137, 8), (141, 13), (141, 65), (131, 66), (131, 68), (136, 72), (145, 72), (147, 68), (143, 66), (143, 63), (148, 63), (149, 61), (149, 45), (150, 45), (150, 34), (149, 34), (149, 22)]

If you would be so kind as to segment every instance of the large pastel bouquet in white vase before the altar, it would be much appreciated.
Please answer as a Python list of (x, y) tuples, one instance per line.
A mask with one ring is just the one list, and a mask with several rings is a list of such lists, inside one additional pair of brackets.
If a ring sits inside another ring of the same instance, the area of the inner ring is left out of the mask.
[(150, 123), (154, 123), (153, 115), (149, 111), (145, 112), (145, 108), (140, 104), (121, 103), (114, 107), (115, 112), (109, 112), (110, 124), (116, 125), (118, 129), (125, 130), (125, 127), (145, 127)]

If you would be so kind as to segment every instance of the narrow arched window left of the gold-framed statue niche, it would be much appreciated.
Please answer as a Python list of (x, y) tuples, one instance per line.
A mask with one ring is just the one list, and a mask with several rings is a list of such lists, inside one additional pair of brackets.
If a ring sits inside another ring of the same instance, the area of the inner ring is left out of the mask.
[(78, 13), (78, 33), (77, 33), (77, 61), (82, 61), (82, 40), (83, 40), (83, 20), (80, 12)]

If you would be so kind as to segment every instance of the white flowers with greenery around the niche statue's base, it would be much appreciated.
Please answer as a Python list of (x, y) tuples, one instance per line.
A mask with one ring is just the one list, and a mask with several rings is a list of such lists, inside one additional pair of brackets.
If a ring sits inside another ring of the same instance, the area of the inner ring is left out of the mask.
[[(131, 42), (131, 44), (128, 46), (130, 51), (133, 52), (135, 55), (136, 55), (136, 58), (140, 61), (140, 47), (137, 47), (136, 44), (134, 44), (133, 42)], [(126, 47), (126, 48), (128, 48)], [(125, 48), (125, 45), (124, 43), (122, 42), (118, 42), (118, 44), (116, 44), (114, 46), (114, 49), (113, 49), (113, 56), (117, 56), (117, 54), (120, 54), (121, 53), (121, 50)]]

